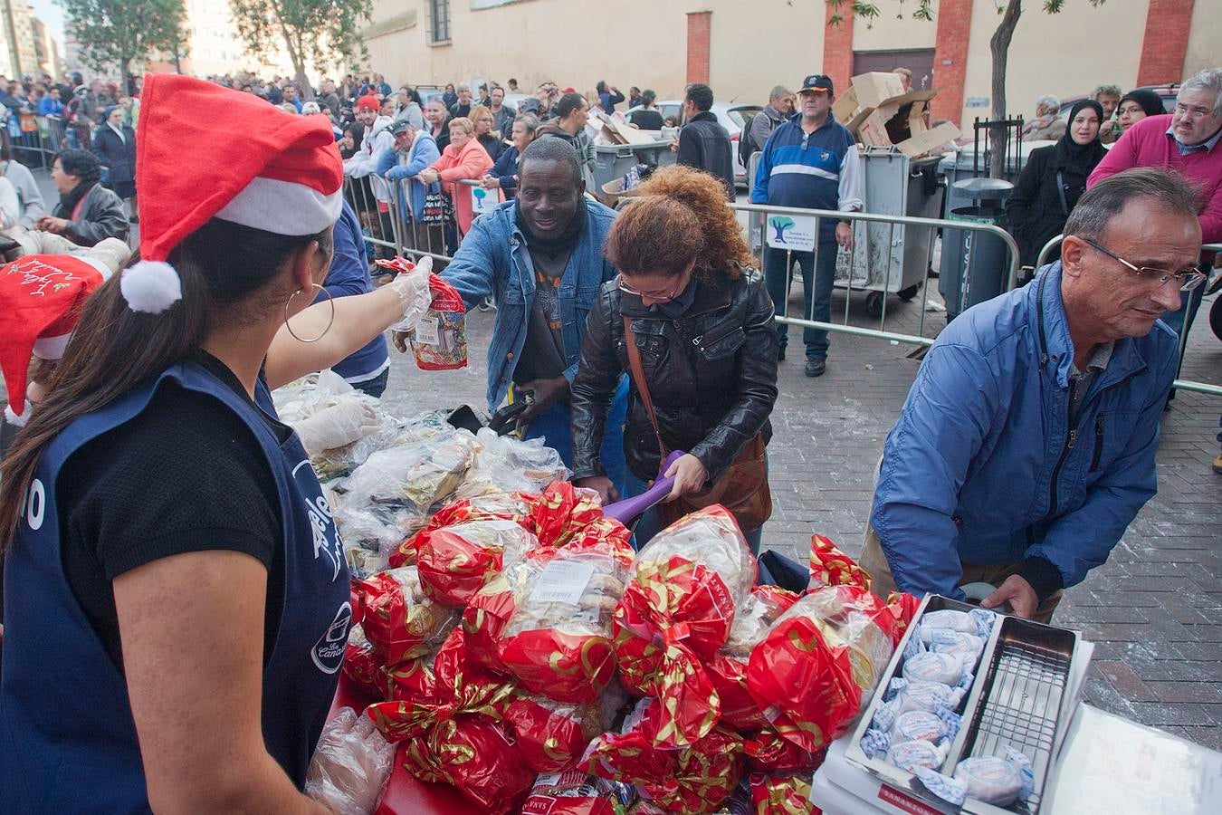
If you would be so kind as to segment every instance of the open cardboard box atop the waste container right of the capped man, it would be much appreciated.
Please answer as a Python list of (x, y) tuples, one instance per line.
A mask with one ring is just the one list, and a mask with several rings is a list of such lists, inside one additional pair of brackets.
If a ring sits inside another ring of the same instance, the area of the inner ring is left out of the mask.
[(832, 104), (832, 114), (863, 144), (893, 145), (916, 158), (959, 137), (959, 128), (949, 122), (932, 128), (925, 125), (925, 111), (936, 95), (937, 90), (904, 93), (895, 73), (862, 73)]

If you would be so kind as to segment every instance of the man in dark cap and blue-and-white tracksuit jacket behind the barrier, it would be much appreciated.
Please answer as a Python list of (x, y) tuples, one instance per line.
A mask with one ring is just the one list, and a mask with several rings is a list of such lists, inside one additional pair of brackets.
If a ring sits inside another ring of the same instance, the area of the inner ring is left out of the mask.
[[(802, 115), (772, 131), (764, 145), (752, 189), (753, 204), (842, 213), (865, 208), (862, 200), (862, 159), (853, 136), (831, 115), (832, 99), (832, 81), (829, 77), (814, 75), (802, 82), (798, 92)], [(802, 316), (821, 323), (831, 319), (837, 244), (852, 248), (853, 227), (848, 221), (824, 217), (819, 220), (815, 252), (791, 253), (767, 248), (764, 277), (777, 314), (785, 314), (789, 271), (786, 266), (796, 259), (802, 266), (805, 302)], [(777, 323), (776, 330), (781, 337), (781, 359), (785, 359), (789, 326)], [(822, 375), (827, 360), (827, 332), (804, 329), (802, 341), (807, 346), (807, 376)]]

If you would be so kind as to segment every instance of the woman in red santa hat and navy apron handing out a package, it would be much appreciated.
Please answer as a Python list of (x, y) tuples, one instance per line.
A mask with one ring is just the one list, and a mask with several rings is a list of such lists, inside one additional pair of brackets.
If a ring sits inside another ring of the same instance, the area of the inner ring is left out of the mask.
[(401, 320), (426, 272), (308, 305), (341, 205), (325, 120), (158, 75), (137, 144), (142, 258), (89, 296), (0, 474), (0, 809), (325, 811), (301, 789), (348, 569), (269, 389)]

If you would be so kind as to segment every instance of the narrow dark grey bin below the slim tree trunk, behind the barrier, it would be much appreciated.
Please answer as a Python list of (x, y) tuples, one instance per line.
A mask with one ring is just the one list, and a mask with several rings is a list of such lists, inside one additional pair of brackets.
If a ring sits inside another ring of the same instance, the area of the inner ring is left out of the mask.
[[(956, 181), (947, 191), (946, 217), (1006, 226), (1006, 199), (1014, 185), (1000, 178)], [(937, 290), (946, 301), (946, 319), (1006, 291), (1009, 248), (996, 236), (970, 230), (942, 230), (942, 264)]]

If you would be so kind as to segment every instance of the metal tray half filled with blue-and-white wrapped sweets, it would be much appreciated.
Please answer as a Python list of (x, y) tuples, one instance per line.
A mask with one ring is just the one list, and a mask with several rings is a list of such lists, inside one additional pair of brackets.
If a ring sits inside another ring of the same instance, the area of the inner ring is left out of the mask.
[(913, 618), (913, 624), (904, 633), (891, 662), (887, 663), (870, 706), (858, 722), (846, 759), (942, 813), (1036, 815), (1045, 781), (1051, 773), (1064, 726), (1068, 723), (1067, 714), (1070, 711), (1067, 707), (1072, 707), (1067, 684), (1070, 665), (1078, 650), (1077, 632), (998, 615), (985, 643), (980, 665), (976, 666), (975, 681), (959, 711), (963, 726), (942, 765), (942, 771), (949, 775), (962, 759), (1002, 755), (1002, 747), (1009, 744), (1031, 759), (1035, 792), (1026, 803), (1000, 808), (968, 798), (962, 808), (952, 806), (925, 789), (916, 776), (882, 759), (870, 759), (860, 748), (862, 737), (874, 720), (875, 711), (884, 704), (882, 696), (887, 684), (901, 673), (904, 646), (916, 630), (920, 617), (927, 611), (943, 609), (970, 611), (974, 607), (938, 595), (925, 598)]

